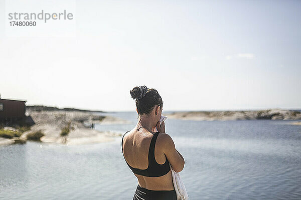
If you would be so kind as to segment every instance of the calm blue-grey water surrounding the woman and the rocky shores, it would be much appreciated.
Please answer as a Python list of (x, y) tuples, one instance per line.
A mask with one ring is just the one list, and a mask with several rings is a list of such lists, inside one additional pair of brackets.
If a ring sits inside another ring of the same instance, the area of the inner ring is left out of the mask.
[[(136, 123), (135, 112), (107, 114), (132, 124), (97, 129), (125, 132)], [(190, 199), (301, 199), (301, 126), (288, 122), (168, 119)], [(0, 199), (132, 199), (137, 179), (120, 141), (0, 146)]]

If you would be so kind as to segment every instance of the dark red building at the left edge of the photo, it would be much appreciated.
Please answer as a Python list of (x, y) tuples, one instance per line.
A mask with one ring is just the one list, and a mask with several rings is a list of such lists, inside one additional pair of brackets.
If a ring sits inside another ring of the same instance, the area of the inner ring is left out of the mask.
[(0, 96), (0, 121), (17, 121), (25, 116), (26, 100), (2, 99)]

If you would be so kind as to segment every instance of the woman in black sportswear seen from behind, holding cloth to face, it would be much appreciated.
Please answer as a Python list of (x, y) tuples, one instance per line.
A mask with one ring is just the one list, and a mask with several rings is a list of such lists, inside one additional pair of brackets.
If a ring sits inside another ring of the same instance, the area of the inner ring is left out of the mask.
[[(160, 125), (163, 101), (156, 89), (145, 85), (130, 91), (136, 99), (138, 122), (121, 140), (125, 162), (138, 179), (133, 200), (176, 200), (172, 172), (184, 168), (184, 158), (175, 148), (171, 136), (165, 133), (165, 123)], [(158, 132), (154, 132), (157, 127)]]

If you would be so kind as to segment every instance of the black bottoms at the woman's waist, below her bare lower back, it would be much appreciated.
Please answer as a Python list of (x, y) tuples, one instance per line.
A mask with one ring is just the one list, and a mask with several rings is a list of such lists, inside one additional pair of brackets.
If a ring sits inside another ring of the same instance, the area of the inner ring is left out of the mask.
[(137, 185), (133, 200), (177, 200), (176, 190), (150, 190)]

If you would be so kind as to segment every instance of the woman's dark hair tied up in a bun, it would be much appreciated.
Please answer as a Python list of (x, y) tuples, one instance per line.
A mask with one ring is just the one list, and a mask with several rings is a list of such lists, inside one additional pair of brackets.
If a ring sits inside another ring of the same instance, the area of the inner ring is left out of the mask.
[(147, 89), (147, 87), (143, 85), (139, 87), (136, 86), (129, 92), (131, 97), (133, 99), (136, 99), (136, 107), (138, 110), (138, 114), (140, 115), (143, 113), (149, 115), (149, 113), (153, 110), (155, 105), (160, 105), (161, 108), (163, 106), (162, 98), (158, 93), (157, 89)]

